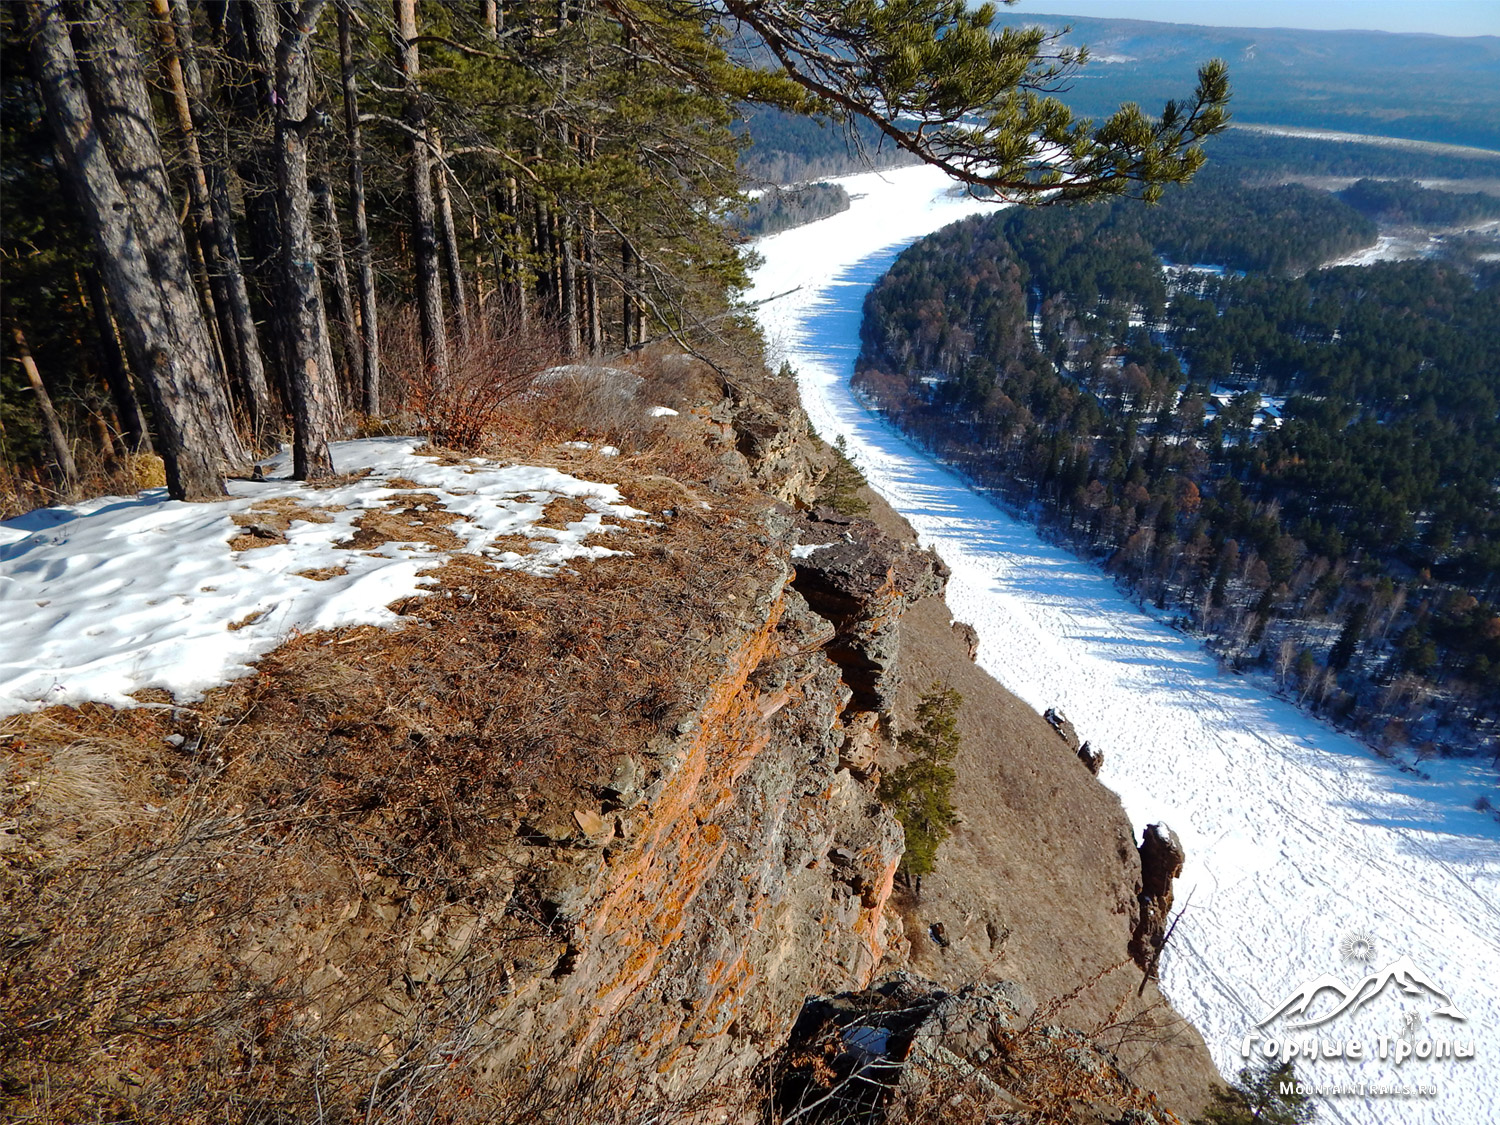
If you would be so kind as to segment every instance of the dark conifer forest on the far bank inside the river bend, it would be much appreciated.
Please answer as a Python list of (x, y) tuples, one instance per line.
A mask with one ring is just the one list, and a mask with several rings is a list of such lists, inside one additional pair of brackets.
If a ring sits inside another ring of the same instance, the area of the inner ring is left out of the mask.
[[(1194, 256), (1278, 261), (1276, 190), (1227, 190)], [(867, 300), (858, 386), (1236, 668), (1377, 746), (1490, 747), (1500, 272), (1162, 270), (1176, 206), (916, 243)]]

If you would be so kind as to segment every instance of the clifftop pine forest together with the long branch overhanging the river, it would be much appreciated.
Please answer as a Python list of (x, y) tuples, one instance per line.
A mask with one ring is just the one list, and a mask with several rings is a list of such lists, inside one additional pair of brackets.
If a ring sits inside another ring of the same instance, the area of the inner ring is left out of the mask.
[(129, 490), (156, 454), (174, 498), (216, 496), (286, 438), (316, 480), (330, 441), (392, 414), (472, 429), (459, 416), (528, 375), (496, 388), (495, 356), (706, 346), (746, 279), (758, 110), (1016, 200), (1155, 195), (1224, 128), (1222, 63), (1161, 117), (1074, 120), (1046, 94), (1078, 54), (992, 20), (951, 0), (6, 4), (3, 506)]

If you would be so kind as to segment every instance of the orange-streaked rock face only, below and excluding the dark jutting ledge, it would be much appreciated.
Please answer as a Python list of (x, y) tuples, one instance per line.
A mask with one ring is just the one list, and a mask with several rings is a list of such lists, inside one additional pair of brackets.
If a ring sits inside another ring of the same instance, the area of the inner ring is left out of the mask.
[[(822, 650), (832, 627), (783, 573), (716, 640), (720, 674), (660, 740), (600, 848), (552, 849), (567, 963), (514, 999), (531, 1040), (626, 1046), (672, 1088), (748, 1068), (810, 993), (867, 981), (900, 826), (840, 766), (862, 728)], [(562, 1053), (550, 1052), (550, 1053)]]

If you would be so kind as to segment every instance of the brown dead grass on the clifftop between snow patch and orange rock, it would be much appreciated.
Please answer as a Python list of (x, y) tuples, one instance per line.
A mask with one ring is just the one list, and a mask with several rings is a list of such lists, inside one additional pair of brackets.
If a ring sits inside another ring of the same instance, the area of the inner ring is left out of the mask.
[[(760, 501), (714, 500), (566, 578), (458, 555), (399, 608), (412, 626), (296, 638), (192, 706), (0, 723), (0, 1107), (579, 1120), (519, 1071), (480, 1077), (504, 996), (566, 952), (518, 832), (596, 807), (700, 690), (765, 564)], [(400, 538), (453, 519), (400, 501)], [(626, 1089), (578, 1104), (614, 1119)]]

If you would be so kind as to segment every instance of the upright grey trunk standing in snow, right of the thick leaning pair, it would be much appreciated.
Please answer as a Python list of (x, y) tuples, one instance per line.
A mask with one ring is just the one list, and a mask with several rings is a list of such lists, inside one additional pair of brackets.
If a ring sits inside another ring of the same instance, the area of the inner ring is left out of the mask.
[[(274, 21), (272, 0), (249, 0), (256, 21)], [(292, 476), (333, 476), (328, 441), (342, 428), (338, 378), (324, 315), (312, 237), (312, 192), (308, 188), (308, 134), (312, 122), (312, 64), (308, 36), (322, 9), (309, 0), (276, 44), (276, 195), (280, 212), (280, 306), (291, 332), (286, 382), (291, 388)]]

